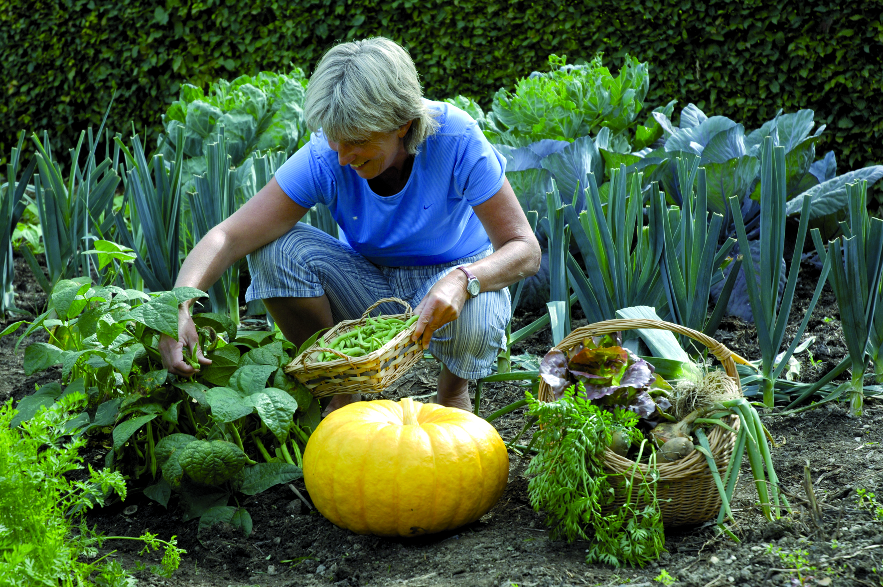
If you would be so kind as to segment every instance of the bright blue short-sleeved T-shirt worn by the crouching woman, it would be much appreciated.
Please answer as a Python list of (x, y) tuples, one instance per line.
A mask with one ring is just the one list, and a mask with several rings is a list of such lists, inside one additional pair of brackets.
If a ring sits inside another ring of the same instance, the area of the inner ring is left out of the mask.
[(375, 194), (341, 166), (321, 129), (276, 171), (276, 181), (304, 208), (327, 205), (351, 247), (372, 263), (432, 265), (478, 254), (490, 240), (472, 206), (500, 191), (506, 159), (464, 111), (426, 104), (441, 112), (441, 126), (420, 145), (398, 194)]

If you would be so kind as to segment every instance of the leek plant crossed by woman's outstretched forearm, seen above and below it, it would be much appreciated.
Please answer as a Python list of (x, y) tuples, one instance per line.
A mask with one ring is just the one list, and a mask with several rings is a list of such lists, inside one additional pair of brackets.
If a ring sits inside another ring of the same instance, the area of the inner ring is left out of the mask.
[[(244, 201), (243, 184), (250, 167), (231, 169), (227, 140), (223, 126), (215, 135), (217, 141), (206, 145), (206, 173), (193, 177), (195, 192), (188, 193), (193, 242), (199, 242), (215, 225), (236, 211)], [(233, 263), (221, 278), (208, 288), (212, 311), (229, 314), (233, 324), (239, 325), (239, 269), (242, 261)]]

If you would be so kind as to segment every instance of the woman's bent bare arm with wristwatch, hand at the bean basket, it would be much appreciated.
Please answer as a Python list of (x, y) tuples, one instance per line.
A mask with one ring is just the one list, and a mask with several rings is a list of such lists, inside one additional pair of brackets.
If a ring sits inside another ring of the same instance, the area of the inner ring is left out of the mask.
[[(494, 245), (494, 253), (467, 265), (479, 278), (482, 292), (500, 290), (540, 270), (540, 243), (509, 186), (509, 179), (503, 181), (499, 192), (472, 210)], [(415, 309), (420, 318), (412, 339), (420, 339), (422, 346), (428, 347), (433, 332), (460, 316), (466, 299), (463, 271), (451, 271), (439, 279)]]

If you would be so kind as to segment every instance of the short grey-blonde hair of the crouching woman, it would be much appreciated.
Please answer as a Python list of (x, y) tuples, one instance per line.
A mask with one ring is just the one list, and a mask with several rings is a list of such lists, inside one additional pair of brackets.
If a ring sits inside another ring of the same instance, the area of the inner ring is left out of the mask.
[(404, 48), (384, 37), (343, 42), (321, 58), (306, 88), (304, 116), (332, 141), (363, 141), (412, 120), (404, 148), (416, 154), (434, 134), (438, 112), (426, 107), (417, 69)]

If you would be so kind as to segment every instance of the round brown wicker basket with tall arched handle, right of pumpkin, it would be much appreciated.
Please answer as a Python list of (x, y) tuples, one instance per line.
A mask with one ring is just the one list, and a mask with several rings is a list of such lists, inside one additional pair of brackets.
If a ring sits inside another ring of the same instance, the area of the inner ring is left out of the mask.
[[(727, 375), (733, 378), (739, 391), (742, 391), (742, 385), (736, 372), (736, 363), (733, 362), (733, 356), (737, 355), (734, 355), (727, 347), (724, 347), (720, 342), (706, 336), (702, 332), (696, 332), (690, 328), (684, 328), (681, 325), (662, 320), (636, 319), (596, 322), (570, 332), (570, 335), (562, 339), (555, 348), (566, 353), (570, 347), (576, 346), (577, 343), (582, 342), (587, 337), (636, 328), (668, 330), (698, 340), (717, 357)], [(538, 399), (540, 401), (555, 400), (552, 388), (541, 378)], [(736, 431), (739, 430), (737, 418), (728, 419), (727, 422)], [(714, 455), (714, 461), (717, 463), (718, 472), (723, 475), (727, 470), (728, 462), (733, 454), (733, 448), (736, 445), (736, 435), (724, 430), (721, 426), (713, 426), (711, 431), (708, 432), (708, 444), (712, 449), (711, 452)], [(604, 465), (611, 474), (618, 475), (632, 469), (635, 466), (635, 461), (630, 461), (608, 449), (604, 453)], [(649, 469), (644, 463), (638, 463), (638, 468), (643, 473), (646, 473)], [(693, 451), (689, 456), (684, 457), (680, 461), (665, 462), (660, 460), (657, 463), (657, 469), (659, 469), (660, 476), (656, 485), (656, 495), (660, 501), (662, 522), (666, 526), (706, 522), (715, 517), (721, 510), (721, 495), (714, 484), (711, 470), (708, 469), (706, 457), (698, 451)], [(623, 497), (617, 495), (617, 499), (614, 505), (611, 506), (611, 509), (622, 505), (623, 501)]]

